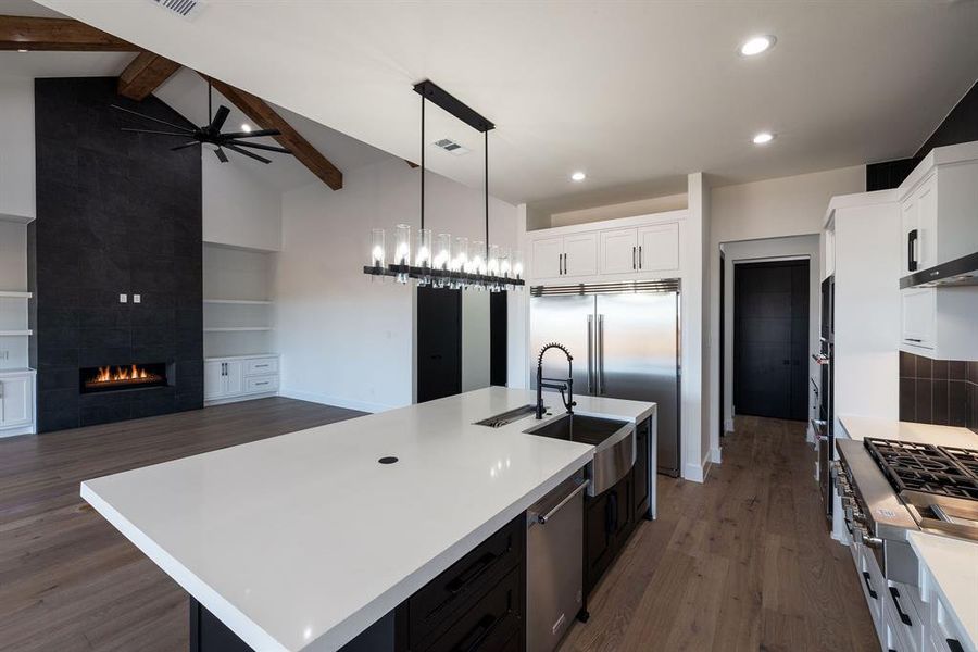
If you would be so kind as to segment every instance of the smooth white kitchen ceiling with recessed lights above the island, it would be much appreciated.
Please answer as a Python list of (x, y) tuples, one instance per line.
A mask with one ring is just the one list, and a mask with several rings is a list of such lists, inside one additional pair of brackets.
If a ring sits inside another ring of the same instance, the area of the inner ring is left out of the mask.
[[(399, 158), (418, 155), (431, 78), (498, 125), (511, 202), (704, 171), (720, 183), (912, 154), (975, 82), (978, 2), (40, 0)], [(738, 45), (774, 34), (753, 59)], [(777, 133), (764, 148), (761, 129)], [(437, 110), (430, 166), (481, 184), (476, 135)], [(572, 185), (568, 174), (586, 170)]]

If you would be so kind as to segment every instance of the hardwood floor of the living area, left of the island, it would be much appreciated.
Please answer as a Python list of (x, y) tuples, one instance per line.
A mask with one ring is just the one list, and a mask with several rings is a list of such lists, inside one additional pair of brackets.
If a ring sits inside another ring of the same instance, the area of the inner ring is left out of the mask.
[(187, 594), (82, 480), (361, 413), (288, 399), (0, 439), (0, 650), (186, 651)]

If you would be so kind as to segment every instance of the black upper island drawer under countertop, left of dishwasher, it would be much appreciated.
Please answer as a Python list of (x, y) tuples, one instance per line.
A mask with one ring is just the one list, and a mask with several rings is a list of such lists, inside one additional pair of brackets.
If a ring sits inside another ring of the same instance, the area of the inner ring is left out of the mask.
[(525, 516), (521, 515), (486, 539), (409, 599), (412, 648), (437, 636), (451, 616), (478, 602), (486, 590), (519, 565), (526, 547)]

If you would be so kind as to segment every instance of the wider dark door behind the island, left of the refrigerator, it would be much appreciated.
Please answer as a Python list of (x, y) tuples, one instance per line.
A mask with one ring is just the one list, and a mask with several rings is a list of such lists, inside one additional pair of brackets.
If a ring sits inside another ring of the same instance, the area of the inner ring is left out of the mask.
[(462, 290), (417, 288), (417, 402), (462, 391)]

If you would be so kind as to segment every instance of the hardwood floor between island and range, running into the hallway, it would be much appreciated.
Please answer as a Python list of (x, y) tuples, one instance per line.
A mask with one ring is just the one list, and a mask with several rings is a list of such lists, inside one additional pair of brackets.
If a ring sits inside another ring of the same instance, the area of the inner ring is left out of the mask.
[(659, 478), (561, 652), (879, 650), (849, 549), (829, 538), (799, 422), (742, 417), (704, 485)]

